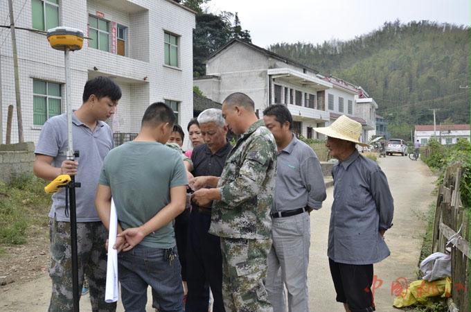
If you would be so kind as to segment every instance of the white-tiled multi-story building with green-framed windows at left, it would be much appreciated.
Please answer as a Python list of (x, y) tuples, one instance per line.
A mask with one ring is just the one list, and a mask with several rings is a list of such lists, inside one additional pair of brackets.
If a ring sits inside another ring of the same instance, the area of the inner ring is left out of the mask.
[[(139, 132), (145, 109), (156, 101), (173, 107), (181, 125), (193, 117), (195, 12), (179, 1), (14, 1), (14, 15), (17, 27), (44, 31), (68, 26), (91, 38), (82, 50), (71, 53), (71, 103), (73, 109), (82, 104), (90, 78), (114, 78), (123, 97), (109, 121), (113, 132)], [(7, 20), (9, 24), (8, 3), (1, 1), (0, 21)], [(44, 33), (17, 29), (16, 37), (24, 139), (37, 141), (46, 119), (65, 111), (64, 53), (53, 50)], [(0, 43), (5, 134), (7, 106), (15, 105), (9, 29), (0, 29)], [(12, 142), (18, 139), (16, 118)]]

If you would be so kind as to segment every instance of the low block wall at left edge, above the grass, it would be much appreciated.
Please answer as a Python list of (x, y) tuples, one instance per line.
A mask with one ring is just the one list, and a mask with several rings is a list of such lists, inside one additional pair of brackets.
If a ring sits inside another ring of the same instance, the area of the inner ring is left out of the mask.
[(33, 173), (34, 151), (33, 142), (0, 144), (0, 180), (10, 182), (15, 175)]

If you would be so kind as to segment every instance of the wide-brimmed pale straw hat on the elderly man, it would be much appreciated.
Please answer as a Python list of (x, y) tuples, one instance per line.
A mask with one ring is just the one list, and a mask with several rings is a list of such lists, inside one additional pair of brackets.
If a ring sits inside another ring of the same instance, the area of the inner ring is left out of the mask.
[(332, 125), (329, 125), (328, 127), (314, 128), (314, 131), (328, 137), (350, 141), (360, 146), (369, 146), (369, 144), (359, 141), (359, 137), (362, 135), (362, 125), (345, 115), (341, 115), (332, 123)]

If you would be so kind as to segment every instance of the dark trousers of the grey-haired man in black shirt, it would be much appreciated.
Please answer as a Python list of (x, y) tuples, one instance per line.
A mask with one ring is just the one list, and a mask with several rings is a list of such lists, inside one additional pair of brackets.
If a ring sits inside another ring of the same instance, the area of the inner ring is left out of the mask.
[(188, 226), (186, 312), (208, 311), (209, 287), (213, 312), (224, 312), (222, 302), (222, 256), (220, 238), (208, 234), (211, 216), (193, 209)]

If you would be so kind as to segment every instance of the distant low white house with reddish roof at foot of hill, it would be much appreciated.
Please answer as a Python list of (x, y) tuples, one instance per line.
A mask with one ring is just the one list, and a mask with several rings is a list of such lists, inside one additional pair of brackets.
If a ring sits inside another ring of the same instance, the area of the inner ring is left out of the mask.
[(441, 144), (455, 144), (459, 138), (470, 141), (470, 125), (416, 125), (414, 130), (414, 142), (419, 140), (420, 144), (427, 144), (429, 139), (434, 138)]

